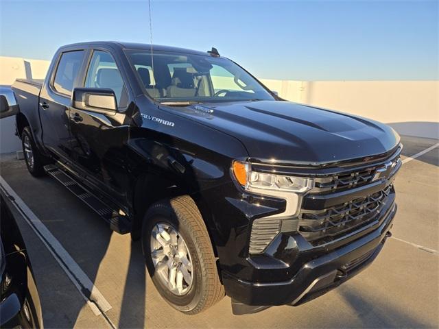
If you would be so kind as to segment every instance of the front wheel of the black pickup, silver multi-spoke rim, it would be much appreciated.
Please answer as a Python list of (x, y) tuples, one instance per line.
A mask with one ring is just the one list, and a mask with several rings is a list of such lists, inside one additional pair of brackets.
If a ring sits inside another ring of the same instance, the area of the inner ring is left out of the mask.
[(153, 204), (141, 239), (152, 281), (172, 307), (194, 315), (224, 297), (209, 233), (191, 197)]

